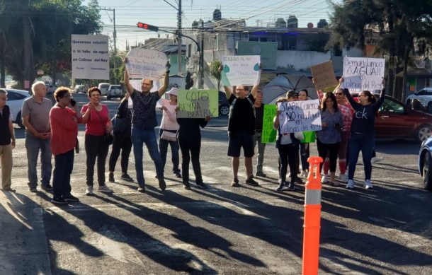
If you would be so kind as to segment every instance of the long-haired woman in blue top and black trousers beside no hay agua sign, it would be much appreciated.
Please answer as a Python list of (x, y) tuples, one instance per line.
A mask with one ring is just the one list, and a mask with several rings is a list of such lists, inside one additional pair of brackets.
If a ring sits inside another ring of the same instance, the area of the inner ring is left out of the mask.
[[(330, 159), (330, 185), (337, 186), (334, 174), (336, 172), (336, 160), (338, 148), (341, 143), (342, 115), (334, 93), (324, 94), (321, 102), (321, 124), (322, 130), (317, 131), (318, 155), (324, 160), (329, 154)], [(322, 165), (319, 166), (319, 172)], [(323, 177), (324, 180), (324, 177)]]

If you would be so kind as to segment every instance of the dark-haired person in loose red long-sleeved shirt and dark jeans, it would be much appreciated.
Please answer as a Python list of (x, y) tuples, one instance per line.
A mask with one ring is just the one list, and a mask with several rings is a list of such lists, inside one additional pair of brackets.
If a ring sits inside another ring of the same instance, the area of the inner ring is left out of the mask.
[(69, 88), (57, 88), (54, 98), (57, 104), (50, 111), (51, 151), (55, 161), (51, 201), (55, 204), (67, 204), (68, 201), (79, 201), (71, 194), (71, 174), (74, 168), (78, 123), (82, 121), (82, 115), (75, 100), (71, 98)]

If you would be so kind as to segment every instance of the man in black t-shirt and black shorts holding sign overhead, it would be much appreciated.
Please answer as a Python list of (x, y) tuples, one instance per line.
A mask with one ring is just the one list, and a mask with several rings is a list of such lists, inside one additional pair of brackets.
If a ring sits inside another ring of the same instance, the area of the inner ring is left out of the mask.
[[(222, 64), (219, 71), (224, 69)], [(258, 81), (259, 83), (259, 81)], [(229, 144), (227, 155), (232, 157), (233, 180), (231, 186), (239, 187), (239, 157), (241, 148), (244, 152), (244, 166), (246, 167), (246, 185), (258, 186), (252, 175), (252, 157), (254, 156), (254, 134), (255, 134), (255, 98), (258, 84), (255, 84), (251, 93), (247, 95), (249, 88), (239, 85), (236, 88), (236, 95), (232, 88), (224, 86), (225, 94), (229, 104), (228, 134)]]

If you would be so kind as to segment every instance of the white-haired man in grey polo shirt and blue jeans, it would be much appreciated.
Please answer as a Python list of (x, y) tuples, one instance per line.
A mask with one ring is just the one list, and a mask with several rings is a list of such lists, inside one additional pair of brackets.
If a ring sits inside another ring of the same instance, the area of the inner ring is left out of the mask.
[(23, 102), (22, 116), (25, 126), (25, 149), (27, 150), (28, 162), (28, 187), (31, 192), (37, 192), (38, 156), (42, 163), (41, 187), (52, 190), (51, 179), (51, 132), (50, 132), (50, 110), (51, 101), (45, 98), (47, 89), (45, 83), (38, 81), (31, 87), (33, 95)]

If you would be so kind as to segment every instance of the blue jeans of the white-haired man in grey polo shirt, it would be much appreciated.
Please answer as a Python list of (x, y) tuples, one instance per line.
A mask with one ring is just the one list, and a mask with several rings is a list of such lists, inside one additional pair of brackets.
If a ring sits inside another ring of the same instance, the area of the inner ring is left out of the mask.
[(51, 139), (38, 139), (33, 134), (25, 131), (25, 149), (27, 150), (27, 164), (28, 164), (28, 187), (35, 188), (38, 186), (38, 156), (40, 151), (41, 168), (41, 184), (45, 187), (50, 184), (51, 180)]

